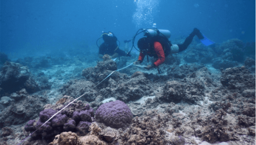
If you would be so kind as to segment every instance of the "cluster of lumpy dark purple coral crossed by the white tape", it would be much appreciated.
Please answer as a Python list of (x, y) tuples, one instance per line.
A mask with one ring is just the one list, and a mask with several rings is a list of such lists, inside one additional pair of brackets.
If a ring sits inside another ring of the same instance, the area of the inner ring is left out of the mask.
[[(64, 96), (55, 105), (45, 105), (45, 110), (40, 112), (36, 124), (34, 123), (34, 120), (30, 120), (26, 124), (25, 130), (32, 133), (38, 129), (32, 137), (34, 139), (42, 138), (49, 141), (52, 141), (55, 135), (60, 134), (64, 130), (75, 131), (79, 135), (86, 135), (89, 132), (88, 130), (91, 124), (90, 122), (92, 122), (94, 111), (90, 108), (89, 104), (84, 104), (81, 101), (74, 102), (62, 110), (61, 113), (55, 115), (49, 122), (44, 124), (44, 122), (50, 119), (57, 113), (57, 111), (61, 110), (64, 105), (67, 105), (72, 100), (72, 97)], [(78, 113), (79, 115), (76, 116)]]

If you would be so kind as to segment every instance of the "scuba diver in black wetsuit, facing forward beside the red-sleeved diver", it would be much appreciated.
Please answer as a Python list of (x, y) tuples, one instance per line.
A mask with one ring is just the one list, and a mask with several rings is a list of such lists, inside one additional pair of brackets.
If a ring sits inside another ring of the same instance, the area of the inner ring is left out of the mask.
[[(117, 58), (119, 56), (130, 56), (125, 51), (119, 49), (119, 45), (117, 45), (117, 43), (116, 43), (118, 40), (117, 40), (116, 36), (113, 35), (112, 32), (108, 32), (108, 33), (103, 32), (102, 38), (104, 40), (104, 43), (102, 43), (99, 46), (99, 58), (102, 58), (103, 55), (106, 55), (106, 54), (110, 55), (111, 58)], [(126, 45), (126, 43), (128, 43), (128, 42), (125, 42), (125, 45)], [(119, 42), (119, 44), (120, 44), (120, 42)]]

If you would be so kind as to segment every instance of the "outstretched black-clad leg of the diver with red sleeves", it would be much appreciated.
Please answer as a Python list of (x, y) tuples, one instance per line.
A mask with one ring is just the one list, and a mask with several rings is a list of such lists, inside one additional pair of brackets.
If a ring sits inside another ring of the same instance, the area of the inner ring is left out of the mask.
[(195, 35), (197, 35), (199, 39), (204, 39), (200, 30), (195, 28), (194, 31), (189, 35), (189, 37), (185, 39), (183, 44), (177, 44), (179, 46), (179, 52), (182, 52), (183, 50), (186, 50), (188, 48), (189, 44), (191, 44)]

